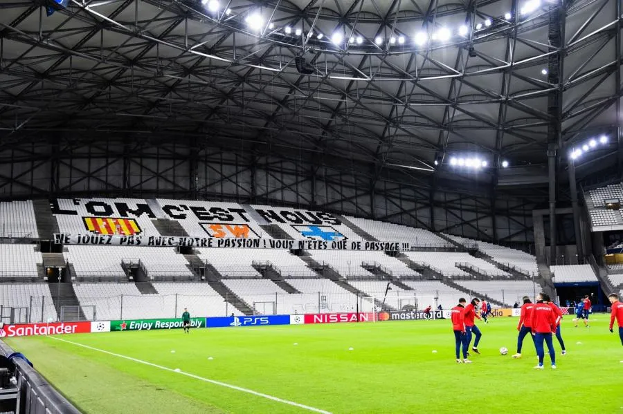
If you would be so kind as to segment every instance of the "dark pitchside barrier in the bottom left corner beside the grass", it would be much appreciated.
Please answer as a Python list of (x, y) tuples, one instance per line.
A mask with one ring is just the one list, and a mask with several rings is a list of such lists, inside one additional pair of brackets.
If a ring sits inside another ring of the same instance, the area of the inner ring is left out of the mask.
[(0, 366), (15, 380), (2, 384), (0, 411), (24, 414), (80, 414), (28, 361), (0, 341)]

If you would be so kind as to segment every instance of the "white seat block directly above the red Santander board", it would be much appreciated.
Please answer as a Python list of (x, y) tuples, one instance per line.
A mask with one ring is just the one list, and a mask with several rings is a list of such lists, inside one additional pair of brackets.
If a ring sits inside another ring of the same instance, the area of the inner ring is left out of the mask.
[(15, 310), (26, 318), (18, 319), (21, 323), (28, 322), (28, 313), (33, 323), (56, 321), (56, 308), (47, 283), (0, 283), (0, 303), (5, 307), (22, 308)]

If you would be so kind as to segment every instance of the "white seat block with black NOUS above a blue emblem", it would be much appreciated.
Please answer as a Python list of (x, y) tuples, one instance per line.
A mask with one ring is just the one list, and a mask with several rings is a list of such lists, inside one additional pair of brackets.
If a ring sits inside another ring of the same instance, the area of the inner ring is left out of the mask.
[[(334, 236), (329, 236), (332, 232), (339, 232), (349, 240), (363, 240), (361, 237), (357, 236), (347, 225), (334, 224), (336, 223), (336, 218), (333, 215), (318, 213), (316, 211), (311, 210), (301, 210), (301, 209), (290, 209), (287, 207), (271, 207), (269, 205), (252, 205), (255, 210), (262, 211), (274, 211), (279, 220), (285, 222), (280, 223), (276, 218), (271, 218), (269, 223), (278, 225), (284, 232), (286, 232), (291, 238), (294, 240), (303, 240), (305, 238), (314, 238), (315, 240), (327, 240), (331, 239)], [(260, 214), (261, 216), (261, 214)], [(320, 223), (322, 222), (322, 223)], [(309, 229), (307, 226), (318, 226), (320, 227), (314, 232), (314, 229)], [(316, 233), (317, 236), (305, 236), (303, 233)], [(324, 237), (324, 238), (323, 238)], [(340, 240), (341, 237), (334, 237), (335, 240)]]

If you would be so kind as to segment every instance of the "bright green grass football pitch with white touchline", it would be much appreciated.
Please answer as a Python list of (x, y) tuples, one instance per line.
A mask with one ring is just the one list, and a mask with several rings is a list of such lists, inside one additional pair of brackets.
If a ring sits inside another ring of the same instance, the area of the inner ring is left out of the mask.
[[(543, 371), (533, 369), (530, 337), (523, 358), (511, 358), (516, 318), (479, 324), (482, 355), (473, 355), (471, 365), (455, 363), (444, 320), (60, 337), (197, 377), (53, 337), (7, 342), (93, 414), (312, 412), (198, 377), (330, 413), (623, 413), (623, 347), (608, 332), (608, 315), (593, 319), (588, 329), (574, 328), (571, 317), (563, 320), (568, 355), (561, 357), (554, 339), (558, 370), (549, 368), (546, 356)], [(502, 346), (509, 355), (499, 354)]]

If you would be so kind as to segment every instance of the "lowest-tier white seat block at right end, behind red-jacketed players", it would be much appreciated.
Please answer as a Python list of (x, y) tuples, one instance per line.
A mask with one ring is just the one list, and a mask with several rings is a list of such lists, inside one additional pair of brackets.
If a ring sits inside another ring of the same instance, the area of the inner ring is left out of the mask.
[[(531, 281), (457, 281), (472, 292), (472, 296), (486, 294), (488, 297), (511, 306), (515, 301), (523, 303), (521, 298), (529, 296), (534, 299), (534, 290), (538, 294), (541, 291), (539, 285), (533, 285)], [(469, 302), (471, 298), (465, 298)], [(480, 298), (482, 300), (482, 298)]]

